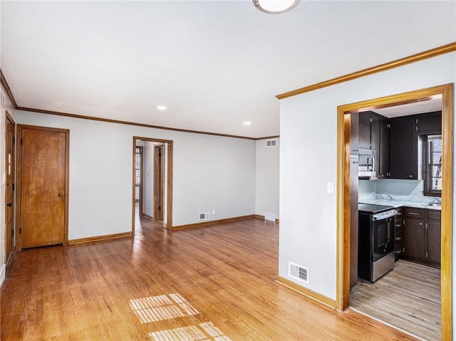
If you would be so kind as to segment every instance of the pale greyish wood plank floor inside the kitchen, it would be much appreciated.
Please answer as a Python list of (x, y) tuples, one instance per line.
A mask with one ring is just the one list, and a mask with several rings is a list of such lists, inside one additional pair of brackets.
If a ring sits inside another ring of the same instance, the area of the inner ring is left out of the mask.
[(354, 286), (350, 306), (424, 340), (440, 340), (440, 269), (399, 260), (375, 283)]

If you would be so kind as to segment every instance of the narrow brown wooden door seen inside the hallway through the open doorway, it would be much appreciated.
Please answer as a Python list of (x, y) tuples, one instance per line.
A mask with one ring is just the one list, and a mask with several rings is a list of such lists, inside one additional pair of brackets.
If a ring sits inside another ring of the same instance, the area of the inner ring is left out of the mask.
[(165, 145), (154, 147), (154, 220), (163, 221), (165, 197)]

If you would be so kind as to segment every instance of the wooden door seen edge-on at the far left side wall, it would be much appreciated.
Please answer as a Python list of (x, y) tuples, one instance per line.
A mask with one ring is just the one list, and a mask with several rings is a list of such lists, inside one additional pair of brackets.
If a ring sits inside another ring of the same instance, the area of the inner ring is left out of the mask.
[(5, 136), (5, 261), (9, 265), (14, 247), (14, 120), (6, 112)]

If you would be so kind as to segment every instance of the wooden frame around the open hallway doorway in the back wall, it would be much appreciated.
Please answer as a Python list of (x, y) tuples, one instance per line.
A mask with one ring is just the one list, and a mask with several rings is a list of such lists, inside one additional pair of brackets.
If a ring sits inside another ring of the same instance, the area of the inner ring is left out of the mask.
[(132, 185), (133, 185), (133, 194), (132, 194), (132, 235), (135, 236), (135, 152), (136, 152), (136, 143), (138, 141), (147, 141), (147, 142), (160, 142), (162, 144), (167, 144), (167, 215), (166, 215), (166, 223), (163, 222), (163, 226), (167, 229), (172, 229), (172, 140), (163, 140), (163, 139), (154, 139), (152, 137), (139, 137), (139, 136), (133, 136), (133, 179), (132, 179)]

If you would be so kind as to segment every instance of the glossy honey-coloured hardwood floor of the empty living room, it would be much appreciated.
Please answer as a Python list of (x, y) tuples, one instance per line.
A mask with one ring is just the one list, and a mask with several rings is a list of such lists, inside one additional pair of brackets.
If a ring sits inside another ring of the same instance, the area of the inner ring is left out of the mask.
[(1, 340), (415, 340), (275, 282), (279, 226), (259, 219), (16, 253)]

